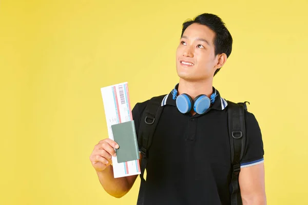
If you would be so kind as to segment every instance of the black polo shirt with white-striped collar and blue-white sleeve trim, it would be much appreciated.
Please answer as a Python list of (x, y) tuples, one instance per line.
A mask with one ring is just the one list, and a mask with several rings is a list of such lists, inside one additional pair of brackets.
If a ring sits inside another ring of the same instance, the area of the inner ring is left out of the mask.
[[(182, 114), (169, 93), (148, 152), (144, 204), (230, 204), (230, 143), (227, 102), (217, 91), (205, 114)], [(136, 130), (147, 101), (132, 110)], [(241, 167), (263, 162), (255, 116), (245, 111), (246, 150)]]

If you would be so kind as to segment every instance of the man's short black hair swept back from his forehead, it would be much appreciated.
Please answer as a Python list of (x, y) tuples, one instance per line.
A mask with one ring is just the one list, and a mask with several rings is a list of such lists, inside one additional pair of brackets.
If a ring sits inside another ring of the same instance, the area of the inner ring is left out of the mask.
[[(231, 54), (232, 51), (232, 36), (228, 29), (226, 28), (224, 22), (220, 17), (218, 17), (215, 14), (210, 13), (203, 13), (198, 16), (196, 16), (194, 19), (190, 19), (183, 23), (182, 25), (182, 34), (183, 36), (184, 31), (187, 29), (188, 26), (191, 24), (201, 24), (204, 26), (207, 26), (211, 30), (215, 32), (215, 38), (214, 38), (214, 49), (215, 49), (215, 55), (225, 53), (227, 57)], [(218, 73), (220, 69), (217, 69), (214, 73), (214, 76)]]

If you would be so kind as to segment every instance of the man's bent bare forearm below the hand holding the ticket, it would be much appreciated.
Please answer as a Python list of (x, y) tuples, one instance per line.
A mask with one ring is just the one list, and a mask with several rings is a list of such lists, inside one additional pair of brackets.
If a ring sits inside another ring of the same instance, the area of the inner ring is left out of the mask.
[(104, 171), (97, 171), (97, 174), (104, 190), (111, 196), (120, 198), (129, 191), (129, 184), (126, 177), (113, 177), (112, 165), (108, 166)]

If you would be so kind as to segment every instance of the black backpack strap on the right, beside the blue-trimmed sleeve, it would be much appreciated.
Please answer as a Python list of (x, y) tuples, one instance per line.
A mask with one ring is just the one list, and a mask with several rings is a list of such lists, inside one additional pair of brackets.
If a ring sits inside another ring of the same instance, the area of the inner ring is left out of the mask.
[(246, 143), (246, 129), (245, 129), (245, 111), (247, 107), (242, 104), (245, 103), (228, 103), (228, 131), (231, 151), (231, 165), (232, 165), (232, 194), (231, 204), (242, 204), (242, 198), (239, 188), (239, 173), (241, 170), (240, 161), (244, 155)]

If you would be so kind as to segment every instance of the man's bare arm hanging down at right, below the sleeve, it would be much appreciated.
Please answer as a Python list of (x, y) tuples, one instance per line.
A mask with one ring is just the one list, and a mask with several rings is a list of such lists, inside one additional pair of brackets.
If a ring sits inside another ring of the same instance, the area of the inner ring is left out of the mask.
[(239, 185), (243, 205), (266, 204), (264, 163), (252, 167), (241, 168)]

